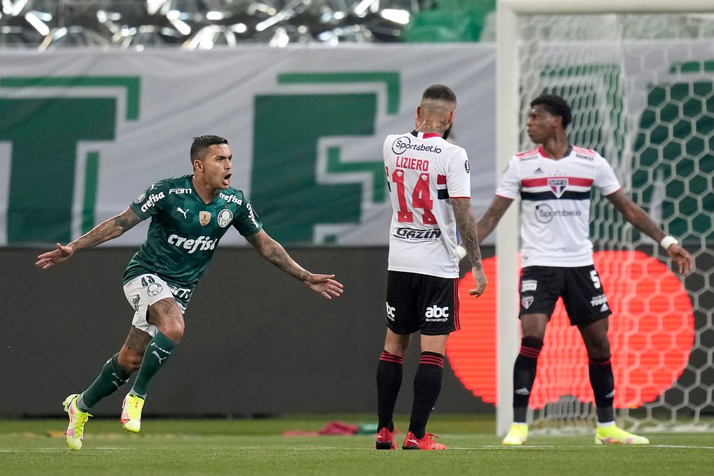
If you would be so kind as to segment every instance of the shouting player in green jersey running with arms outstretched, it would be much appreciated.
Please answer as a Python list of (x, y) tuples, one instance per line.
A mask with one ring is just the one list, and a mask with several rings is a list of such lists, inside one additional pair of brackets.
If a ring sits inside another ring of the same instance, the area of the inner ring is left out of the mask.
[(124, 294), (135, 311), (126, 342), (106, 361), (89, 388), (64, 401), (69, 415), (67, 444), (72, 450), (82, 446), (90, 408), (124, 385), (136, 370), (139, 373), (122, 405), (121, 424), (131, 432), (140, 430), (149, 381), (181, 341), (183, 313), (228, 226), (236, 228), (263, 258), (324, 298), (342, 294), (335, 275), (303, 269), (263, 230), (243, 192), (231, 188), (232, 158), (226, 139), (193, 138), (193, 174), (152, 184), (119, 215), (37, 257), (35, 264), (49, 269), (76, 251), (121, 236), (151, 217), (146, 242), (124, 272)]

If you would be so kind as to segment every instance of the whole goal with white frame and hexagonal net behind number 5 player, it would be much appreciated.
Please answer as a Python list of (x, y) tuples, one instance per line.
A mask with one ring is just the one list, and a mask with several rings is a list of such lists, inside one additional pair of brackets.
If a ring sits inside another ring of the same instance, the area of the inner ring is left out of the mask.
[[(636, 430), (707, 429), (714, 415), (714, 3), (698, 0), (500, 0), (497, 170), (531, 148), (525, 118), (540, 93), (573, 109), (570, 142), (593, 148), (694, 258), (687, 278), (595, 193), (590, 233), (613, 315), (615, 409)], [(516, 207), (511, 207), (516, 208)], [(511, 211), (509, 211), (510, 213)], [(496, 236), (498, 432), (511, 422), (519, 338), (517, 213)], [(515, 231), (515, 233), (514, 233)], [(592, 431), (585, 347), (562, 303), (548, 325), (531, 428)]]

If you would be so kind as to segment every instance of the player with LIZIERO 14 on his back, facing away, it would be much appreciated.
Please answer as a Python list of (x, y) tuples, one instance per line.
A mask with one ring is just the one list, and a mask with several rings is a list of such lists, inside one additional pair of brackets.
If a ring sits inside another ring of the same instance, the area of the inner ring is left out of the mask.
[(458, 330), (456, 231), (473, 265), (476, 297), (486, 289), (476, 218), (471, 213), (471, 178), (466, 151), (446, 141), (456, 95), (435, 84), (416, 109), (416, 128), (388, 136), (384, 167), (392, 201), (389, 231), (384, 351), (377, 369), (376, 448), (394, 450), (394, 405), (411, 334), (421, 331), (421, 360), (414, 378), (414, 402), (403, 450), (446, 450), (426, 432), (441, 390), (449, 333)]

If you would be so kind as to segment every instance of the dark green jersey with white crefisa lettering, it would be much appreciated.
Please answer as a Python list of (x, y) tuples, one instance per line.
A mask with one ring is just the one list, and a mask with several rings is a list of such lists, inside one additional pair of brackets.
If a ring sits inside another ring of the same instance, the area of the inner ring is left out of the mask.
[(263, 228), (242, 191), (218, 191), (206, 204), (193, 188), (191, 177), (156, 182), (129, 205), (142, 220), (151, 217), (151, 223), (146, 242), (124, 272), (124, 284), (142, 274), (158, 275), (183, 305), (191, 299), (228, 226), (243, 236)]

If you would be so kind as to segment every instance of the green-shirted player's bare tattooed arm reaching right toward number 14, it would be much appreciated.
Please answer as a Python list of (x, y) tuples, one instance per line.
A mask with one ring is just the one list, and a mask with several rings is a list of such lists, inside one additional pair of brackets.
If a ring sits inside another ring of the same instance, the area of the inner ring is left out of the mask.
[(302, 268), (301, 265), (288, 255), (288, 252), (276, 240), (273, 240), (264, 230), (255, 235), (246, 237), (258, 253), (266, 260), (285, 271), (293, 278), (301, 280), (308, 288), (322, 295), (324, 298), (338, 298), (342, 294), (342, 284), (332, 278), (333, 274), (313, 274)]

